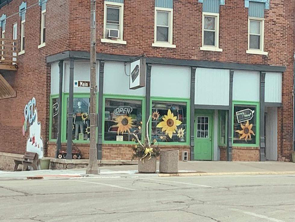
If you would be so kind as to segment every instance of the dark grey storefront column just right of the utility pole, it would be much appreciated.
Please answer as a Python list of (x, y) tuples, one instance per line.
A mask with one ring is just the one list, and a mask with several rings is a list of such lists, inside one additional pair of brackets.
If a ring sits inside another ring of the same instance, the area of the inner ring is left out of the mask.
[(103, 102), (103, 75), (105, 61), (99, 62), (99, 90), (98, 90), (98, 134), (97, 134), (97, 159), (102, 159), (102, 102)]

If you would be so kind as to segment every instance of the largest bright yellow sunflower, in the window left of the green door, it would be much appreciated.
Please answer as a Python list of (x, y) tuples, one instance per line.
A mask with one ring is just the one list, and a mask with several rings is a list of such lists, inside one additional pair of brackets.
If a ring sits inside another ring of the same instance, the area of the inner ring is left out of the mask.
[(162, 122), (160, 122), (157, 127), (162, 128), (162, 132), (165, 131), (165, 135), (169, 135), (170, 139), (172, 138), (173, 133), (175, 133), (177, 126), (179, 126), (182, 122), (177, 119), (177, 116), (174, 116), (171, 113), (171, 110), (168, 109), (167, 115), (164, 115), (162, 118)]

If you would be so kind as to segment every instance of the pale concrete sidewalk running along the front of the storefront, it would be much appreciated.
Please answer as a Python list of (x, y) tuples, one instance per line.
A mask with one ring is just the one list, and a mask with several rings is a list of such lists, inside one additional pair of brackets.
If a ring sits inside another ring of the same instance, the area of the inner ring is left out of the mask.
[[(142, 174), (137, 165), (119, 165), (99, 167), (99, 175), (86, 175), (86, 169), (71, 170), (38, 170), (24, 172), (0, 171), (1, 179), (27, 179), (40, 177), (44, 179), (95, 177), (128, 177), (128, 176), (209, 176), (209, 175), (256, 175), (256, 174), (295, 174), (295, 163), (287, 162), (226, 162), (226, 161), (188, 161), (178, 162), (178, 174)], [(157, 163), (157, 170), (159, 163)]]

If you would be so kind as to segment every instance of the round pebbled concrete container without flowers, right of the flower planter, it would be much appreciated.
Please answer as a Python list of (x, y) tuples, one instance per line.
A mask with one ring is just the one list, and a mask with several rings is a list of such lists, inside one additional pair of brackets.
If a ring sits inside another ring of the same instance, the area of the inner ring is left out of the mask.
[(160, 151), (160, 173), (178, 173), (178, 150)]

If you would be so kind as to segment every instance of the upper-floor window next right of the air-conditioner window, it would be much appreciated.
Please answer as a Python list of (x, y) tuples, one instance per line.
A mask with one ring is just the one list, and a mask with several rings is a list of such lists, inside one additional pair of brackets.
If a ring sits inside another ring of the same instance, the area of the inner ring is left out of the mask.
[(155, 39), (152, 46), (176, 48), (173, 45), (173, 9), (155, 7)]

